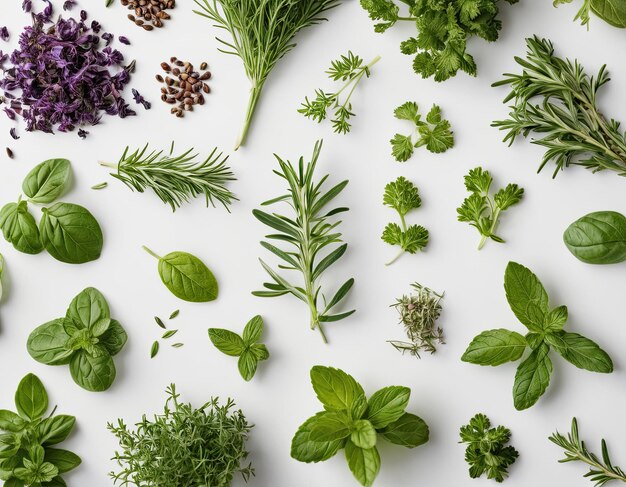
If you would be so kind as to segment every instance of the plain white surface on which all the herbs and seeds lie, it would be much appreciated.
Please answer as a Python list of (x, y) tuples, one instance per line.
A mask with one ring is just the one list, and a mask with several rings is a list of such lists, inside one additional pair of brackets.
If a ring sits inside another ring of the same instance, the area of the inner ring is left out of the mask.
[[(10, 3), (2, 9), (0, 24), (9, 26), (14, 43), (28, 18), (19, 8), (21, 2)], [(60, 0), (56, 3), (61, 4)], [(132, 193), (97, 162), (117, 161), (126, 145), (150, 142), (165, 148), (172, 139), (180, 149), (195, 146), (204, 154), (218, 146), (230, 153), (247, 103), (241, 63), (216, 51), (216, 29), (192, 13), (190, 1), (180, 2), (173, 20), (158, 32), (132, 25), (121, 5), (105, 9), (103, 0), (88, 3), (90, 19), (130, 37), (132, 46), (121, 47), (128, 59), (137, 59), (132, 86), (153, 101), (153, 109), (146, 112), (139, 107), (139, 116), (126, 120), (106, 117), (102, 125), (89, 129), (86, 141), (75, 133), (51, 136), (26, 133), (20, 127), (22, 137), (14, 142), (8, 135), (11, 124), (0, 117), (3, 152), (4, 145), (10, 145), (16, 154), (14, 160), (0, 156), (1, 202), (17, 198), (23, 177), (36, 163), (66, 157), (72, 161), (75, 181), (63, 199), (89, 208), (105, 236), (102, 257), (80, 266), (62, 264), (45, 252), (20, 254), (0, 241), (7, 266), (7, 293), (0, 309), (0, 407), (12, 408), (19, 379), (35, 372), (59, 412), (76, 415), (77, 430), (64, 447), (80, 454), (83, 465), (67, 476), (70, 485), (111, 485), (107, 472), (113, 467), (109, 459), (117, 445), (106, 430), (107, 421), (122, 417), (133, 422), (144, 412), (159, 411), (170, 382), (196, 405), (210, 396), (231, 396), (256, 424), (248, 443), (256, 468), (250, 485), (357, 485), (341, 454), (311, 465), (289, 456), (296, 429), (320, 409), (308, 375), (315, 364), (344, 369), (368, 394), (391, 384), (411, 387), (409, 410), (430, 425), (431, 440), (414, 450), (381, 441), (379, 486), (493, 485), (468, 477), (464, 447), (457, 443), (459, 427), (477, 412), (513, 431), (512, 444), (520, 458), (510, 470), (509, 487), (590, 485), (582, 478), (583, 465), (557, 464), (561, 451), (547, 440), (555, 429), (569, 429), (572, 416), (579, 418), (590, 446), (598, 449), (601, 436), (607, 436), (615, 462), (626, 462), (626, 442), (621, 441), (626, 433), (624, 264), (582, 264), (562, 243), (567, 225), (588, 212), (626, 213), (624, 180), (613, 173), (593, 175), (578, 167), (556, 180), (551, 178), (552, 167), (537, 175), (543, 149), (525, 140), (508, 148), (501, 142), (503, 134), (490, 127), (493, 120), (507, 114), (501, 103), (507, 90), (490, 85), (501, 73), (518, 71), (513, 56), (524, 53), (524, 38), (532, 34), (551, 38), (560, 55), (577, 57), (590, 73), (607, 63), (613, 81), (603, 89), (599, 103), (608, 116), (626, 119), (623, 31), (597, 18), (589, 31), (572, 22), (579, 1), (559, 9), (549, 0), (504, 4), (501, 39), (492, 44), (473, 39), (469, 44), (479, 76), (459, 73), (445, 83), (435, 83), (415, 75), (411, 58), (399, 52), (400, 41), (413, 33), (411, 26), (375, 34), (358, 2), (347, 0), (328, 14), (329, 22), (303, 32), (297, 48), (271, 74), (249, 143), (230, 159), (238, 178), (232, 187), (241, 200), (232, 206), (232, 213), (206, 209), (198, 200), (173, 214), (153, 194)], [(348, 49), (368, 60), (379, 54), (383, 59), (357, 89), (354, 127), (342, 136), (333, 134), (329, 123), (317, 125), (296, 109), (315, 88), (331, 88), (324, 70), (331, 59)], [(154, 80), (160, 62), (172, 55), (196, 65), (207, 61), (213, 72), (213, 92), (207, 104), (184, 119), (174, 118), (158, 100), (159, 85)], [(432, 103), (442, 107), (455, 132), (454, 149), (441, 155), (420, 149), (404, 164), (392, 159), (389, 139), (396, 131), (409, 129), (393, 118), (393, 109), (407, 100), (417, 101), (424, 111)], [(327, 326), (329, 345), (309, 330), (307, 310), (295, 298), (261, 299), (250, 294), (266, 279), (257, 259), (271, 260), (258, 244), (266, 228), (252, 217), (251, 210), (282, 194), (284, 186), (272, 174), (276, 166), (272, 153), (292, 160), (309, 156), (320, 138), (324, 138), (324, 148), (318, 177), (331, 173), (333, 183), (350, 180), (337, 199), (337, 204), (351, 208), (342, 225), (349, 249), (327, 272), (326, 285), (332, 292), (354, 276), (356, 286), (347, 304), (358, 309), (353, 317)], [(476, 250), (478, 234), (457, 222), (455, 211), (466, 196), (463, 175), (479, 164), (492, 171), (496, 187), (517, 182), (526, 189), (524, 201), (502, 218), (499, 229), (507, 243), (489, 242), (480, 252)], [(431, 241), (425, 253), (405, 255), (385, 267), (383, 263), (396, 250), (380, 240), (380, 233), (396, 215), (382, 206), (382, 191), (400, 175), (419, 186), (423, 207), (408, 220), (427, 227)], [(102, 181), (109, 182), (107, 189), (89, 189)], [(184, 250), (200, 257), (219, 280), (218, 300), (205, 304), (177, 300), (161, 284), (157, 263), (141, 250), (143, 244), (162, 254)], [(511, 397), (516, 364), (484, 368), (460, 361), (467, 344), (482, 330), (523, 331), (502, 287), (510, 260), (539, 276), (554, 306), (569, 306), (568, 329), (596, 340), (610, 353), (615, 362), (612, 375), (585, 372), (555, 357), (545, 396), (532, 409), (517, 412)], [(386, 343), (403, 337), (389, 305), (415, 281), (446, 292), (440, 324), (447, 344), (421, 360), (402, 356)], [(87, 286), (104, 293), (113, 317), (129, 334), (126, 348), (116, 357), (118, 378), (105, 393), (80, 389), (67, 367), (40, 365), (25, 347), (33, 328), (62, 316), (72, 297)], [(180, 329), (177, 336), (185, 347), (163, 347), (150, 360), (150, 345), (160, 335), (153, 316), (166, 318), (175, 309), (181, 313), (171, 326)], [(255, 314), (265, 318), (264, 338), (272, 357), (246, 383), (236, 360), (210, 345), (207, 328), (241, 331)], [(243, 482), (237, 480), (234, 485)]]

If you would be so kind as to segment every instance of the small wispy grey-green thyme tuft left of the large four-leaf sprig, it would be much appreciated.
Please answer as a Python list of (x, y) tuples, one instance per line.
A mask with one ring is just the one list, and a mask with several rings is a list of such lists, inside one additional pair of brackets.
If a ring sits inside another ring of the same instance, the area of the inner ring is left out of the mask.
[(411, 284), (413, 294), (402, 296), (391, 306), (398, 311), (409, 342), (390, 340), (396, 350), (409, 352), (420, 358), (420, 351), (435, 353), (436, 343), (443, 341), (443, 330), (437, 326), (441, 315), (443, 294), (438, 294), (421, 284)]

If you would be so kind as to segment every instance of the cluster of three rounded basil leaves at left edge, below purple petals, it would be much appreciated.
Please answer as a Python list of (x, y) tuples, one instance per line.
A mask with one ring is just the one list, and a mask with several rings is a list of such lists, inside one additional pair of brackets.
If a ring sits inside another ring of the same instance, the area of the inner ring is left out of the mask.
[[(31, 203), (48, 204), (69, 187), (70, 162), (50, 159), (35, 166), (22, 183), (22, 190)], [(68, 264), (84, 264), (96, 260), (102, 252), (102, 230), (94, 216), (82, 206), (55, 203), (42, 208), (39, 226), (22, 200), (0, 209), (0, 230), (7, 242), (26, 254), (43, 249), (55, 259)]]

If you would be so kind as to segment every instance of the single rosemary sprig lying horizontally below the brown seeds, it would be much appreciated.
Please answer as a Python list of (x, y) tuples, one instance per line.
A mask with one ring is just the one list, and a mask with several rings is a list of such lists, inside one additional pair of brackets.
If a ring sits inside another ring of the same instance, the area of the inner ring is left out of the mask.
[(174, 143), (169, 154), (163, 151), (147, 153), (148, 144), (129, 154), (128, 147), (117, 164), (101, 162), (106, 167), (117, 169), (111, 176), (122, 181), (126, 186), (143, 193), (151, 189), (163, 201), (176, 211), (183, 203), (203, 194), (207, 207), (219, 202), (230, 211), (228, 205), (237, 200), (226, 187), (235, 177), (226, 165), (228, 156), (222, 157), (217, 148), (204, 161), (197, 161), (198, 154), (192, 154), (193, 148), (174, 156)]

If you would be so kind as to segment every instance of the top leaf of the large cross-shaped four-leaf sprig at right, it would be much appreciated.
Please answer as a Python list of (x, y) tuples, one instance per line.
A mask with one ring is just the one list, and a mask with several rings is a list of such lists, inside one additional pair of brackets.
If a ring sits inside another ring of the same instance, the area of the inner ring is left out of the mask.
[(504, 273), (504, 290), (511, 310), (530, 331), (541, 332), (548, 313), (548, 293), (533, 274), (517, 262), (509, 262)]

